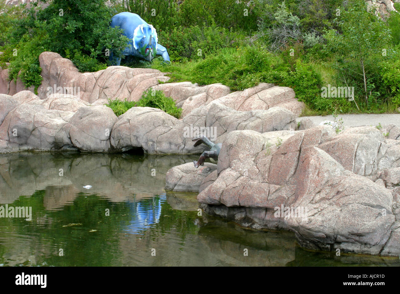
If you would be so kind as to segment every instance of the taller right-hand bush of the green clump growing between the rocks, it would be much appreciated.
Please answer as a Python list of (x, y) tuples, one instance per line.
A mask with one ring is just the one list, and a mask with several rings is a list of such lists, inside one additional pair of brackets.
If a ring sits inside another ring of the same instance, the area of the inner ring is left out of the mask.
[(148, 89), (135, 106), (159, 108), (176, 118), (182, 115), (182, 108), (176, 107), (174, 99), (166, 97), (161, 90)]

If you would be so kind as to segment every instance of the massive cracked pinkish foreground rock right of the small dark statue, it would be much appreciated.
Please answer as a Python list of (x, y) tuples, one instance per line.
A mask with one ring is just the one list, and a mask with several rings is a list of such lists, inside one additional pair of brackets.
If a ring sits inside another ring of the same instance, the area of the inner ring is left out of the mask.
[[(396, 188), (392, 193), (382, 180), (367, 178), (378, 176), (378, 166), (367, 151), (371, 149), (379, 161), (384, 152), (375, 147), (386, 146), (382, 134), (362, 127), (337, 135), (328, 126), (280, 132), (279, 140), (272, 134), (276, 132), (230, 132), (222, 142), (217, 170), (203, 181), (206, 185), (197, 198), (200, 207), (243, 226), (291, 230), (300, 245), (314, 250), (400, 254), (395, 225), (400, 208), (392, 211), (400, 207), (400, 192)], [(326, 148), (332, 142), (356, 146), (348, 154)], [(341, 164), (346, 156), (352, 156), (356, 168), (343, 165), (350, 159)], [(381, 177), (393, 183), (396, 172), (387, 170)]]

